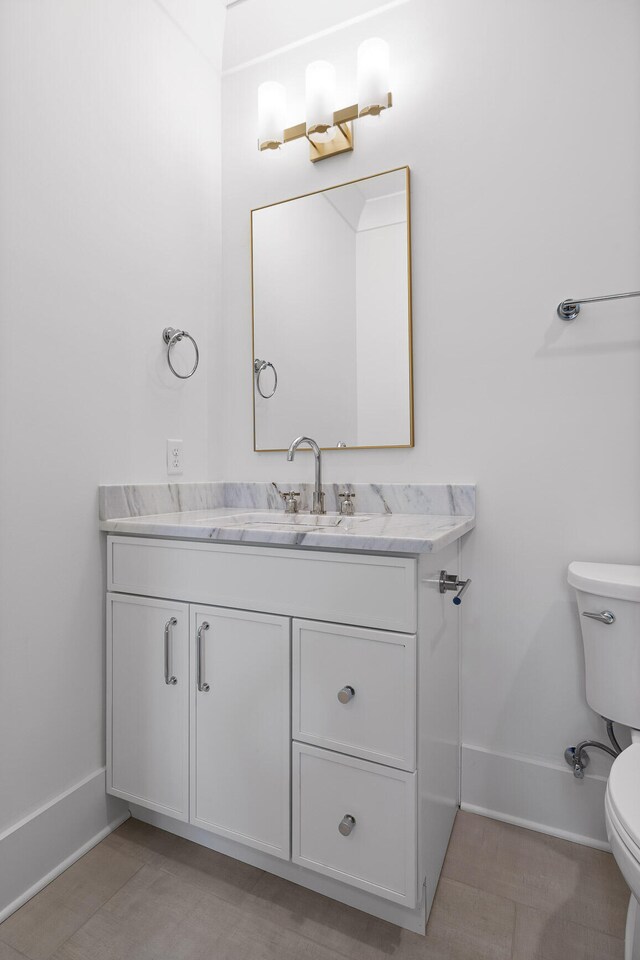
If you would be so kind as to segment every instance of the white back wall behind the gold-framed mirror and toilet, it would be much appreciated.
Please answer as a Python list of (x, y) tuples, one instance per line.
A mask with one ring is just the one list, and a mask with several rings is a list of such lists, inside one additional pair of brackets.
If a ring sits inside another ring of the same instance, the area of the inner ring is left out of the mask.
[[(268, 4), (272, 22), (289, 6)], [(334, 22), (351, 15), (339, 6)], [(261, 8), (245, 0), (228, 11), (228, 36), (253, 30), (246, 59), (282, 45), (261, 35)], [(258, 84), (285, 82), (299, 121), (305, 65), (328, 57), (351, 103), (356, 49), (372, 35), (391, 44), (394, 107), (359, 123), (355, 152), (312, 165), (301, 141), (260, 156)], [(567, 744), (602, 733), (585, 704), (565, 574), (573, 558), (638, 562), (640, 313), (638, 301), (603, 304), (566, 324), (555, 306), (638, 287), (639, 107), (636, 0), (412, 0), (223, 84), (228, 376), (215, 475), (311, 474), (310, 462), (251, 449), (251, 395), (237, 376), (251, 357), (248, 210), (408, 163), (416, 446), (327, 454), (326, 478), (477, 481), (462, 700), (464, 740), (481, 749), (469, 754), (465, 799), (596, 840), (602, 782), (579, 784), (562, 762)], [(525, 789), (496, 799), (503, 756), (506, 781)], [(590, 770), (606, 769), (594, 753)]]

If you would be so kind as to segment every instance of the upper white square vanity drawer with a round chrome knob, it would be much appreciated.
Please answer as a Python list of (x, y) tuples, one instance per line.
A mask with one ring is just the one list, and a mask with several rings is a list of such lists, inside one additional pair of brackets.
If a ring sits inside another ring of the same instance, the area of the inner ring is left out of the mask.
[(414, 770), (415, 636), (294, 620), (293, 738)]

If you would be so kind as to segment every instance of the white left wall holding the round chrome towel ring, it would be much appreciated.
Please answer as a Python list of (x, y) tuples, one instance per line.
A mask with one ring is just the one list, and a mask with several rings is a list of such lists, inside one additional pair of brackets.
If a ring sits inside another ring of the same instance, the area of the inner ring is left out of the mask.
[[(163, 480), (169, 437), (206, 476), (223, 17), (0, 5), (0, 834), (104, 764), (98, 484)], [(185, 383), (168, 324), (203, 347)]]

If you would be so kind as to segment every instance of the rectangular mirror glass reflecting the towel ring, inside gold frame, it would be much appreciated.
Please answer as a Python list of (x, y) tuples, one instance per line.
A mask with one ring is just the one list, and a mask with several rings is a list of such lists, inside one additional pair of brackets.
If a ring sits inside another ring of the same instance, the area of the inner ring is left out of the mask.
[(251, 211), (254, 449), (413, 446), (409, 168)]

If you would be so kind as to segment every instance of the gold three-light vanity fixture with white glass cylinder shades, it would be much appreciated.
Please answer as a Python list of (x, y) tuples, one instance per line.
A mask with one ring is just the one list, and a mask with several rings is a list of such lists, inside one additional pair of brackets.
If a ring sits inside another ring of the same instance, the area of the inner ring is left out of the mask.
[(379, 117), (393, 106), (389, 92), (389, 45), (379, 37), (358, 48), (358, 103), (336, 110), (336, 71), (326, 60), (315, 60), (305, 72), (305, 121), (284, 126), (286, 93), (281, 83), (258, 88), (258, 150), (276, 150), (283, 143), (306, 137), (312, 163), (353, 150), (352, 121)]

